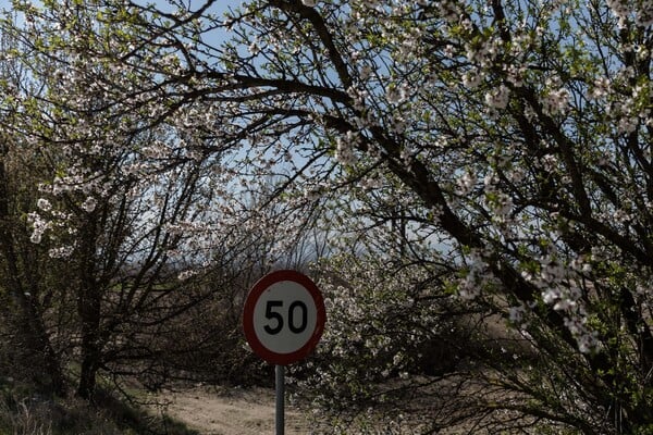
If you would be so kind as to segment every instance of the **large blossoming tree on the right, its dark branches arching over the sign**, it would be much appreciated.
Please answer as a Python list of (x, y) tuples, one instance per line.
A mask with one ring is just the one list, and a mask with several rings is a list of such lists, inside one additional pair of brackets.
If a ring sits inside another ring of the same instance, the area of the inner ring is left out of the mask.
[(527, 362), (466, 371), (480, 421), (651, 430), (650, 1), (169, 3), (27, 10), (74, 30), (73, 67), (141, 78), (97, 76), (94, 113), (181, 122), (232, 192), (276, 176), (287, 234), (331, 206), (345, 248), (509, 325)]

